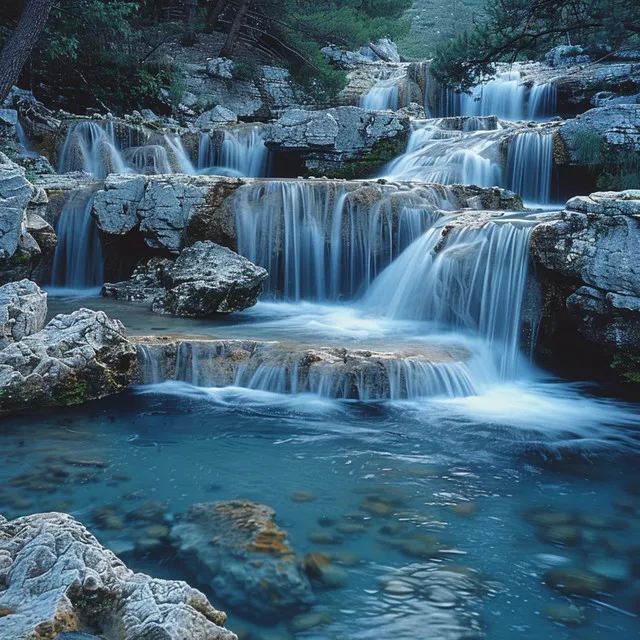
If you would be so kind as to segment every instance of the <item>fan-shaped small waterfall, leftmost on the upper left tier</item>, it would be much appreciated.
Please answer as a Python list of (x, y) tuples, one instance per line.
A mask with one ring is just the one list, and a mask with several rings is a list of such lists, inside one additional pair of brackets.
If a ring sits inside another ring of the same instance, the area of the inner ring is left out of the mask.
[(90, 121), (70, 125), (58, 160), (58, 173), (68, 171), (86, 171), (96, 178), (130, 173), (116, 143), (112, 122), (104, 126)]

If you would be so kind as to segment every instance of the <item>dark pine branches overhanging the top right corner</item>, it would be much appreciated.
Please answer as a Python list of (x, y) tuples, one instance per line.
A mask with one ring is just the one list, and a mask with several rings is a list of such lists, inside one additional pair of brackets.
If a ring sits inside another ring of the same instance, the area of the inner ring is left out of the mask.
[(497, 62), (540, 59), (557, 44), (579, 44), (606, 58), (639, 46), (640, 0), (486, 0), (482, 19), (440, 45), (433, 75), (466, 90), (495, 72)]

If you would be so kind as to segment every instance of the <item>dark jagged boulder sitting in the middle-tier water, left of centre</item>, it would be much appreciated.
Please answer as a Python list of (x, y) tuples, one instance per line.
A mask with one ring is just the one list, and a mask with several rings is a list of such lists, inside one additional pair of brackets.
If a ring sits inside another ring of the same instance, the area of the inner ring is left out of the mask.
[(267, 275), (262, 267), (226, 247), (197, 242), (175, 262), (152, 259), (130, 281), (105, 284), (102, 295), (151, 301), (156, 313), (203, 317), (253, 306)]

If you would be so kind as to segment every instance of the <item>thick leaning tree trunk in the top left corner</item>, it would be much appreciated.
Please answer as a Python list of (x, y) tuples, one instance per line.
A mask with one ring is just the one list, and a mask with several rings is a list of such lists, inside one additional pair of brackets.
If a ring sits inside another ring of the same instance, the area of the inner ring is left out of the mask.
[(20, 21), (0, 53), (0, 103), (18, 81), (22, 67), (29, 59), (40, 34), (47, 24), (55, 0), (26, 0)]

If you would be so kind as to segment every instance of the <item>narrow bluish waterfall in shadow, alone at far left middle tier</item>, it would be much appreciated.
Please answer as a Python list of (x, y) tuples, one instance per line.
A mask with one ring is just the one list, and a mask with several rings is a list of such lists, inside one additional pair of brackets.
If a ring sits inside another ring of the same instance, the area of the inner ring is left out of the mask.
[(56, 230), (54, 287), (88, 289), (103, 283), (102, 247), (92, 207), (93, 191), (88, 189), (72, 192), (65, 202)]

